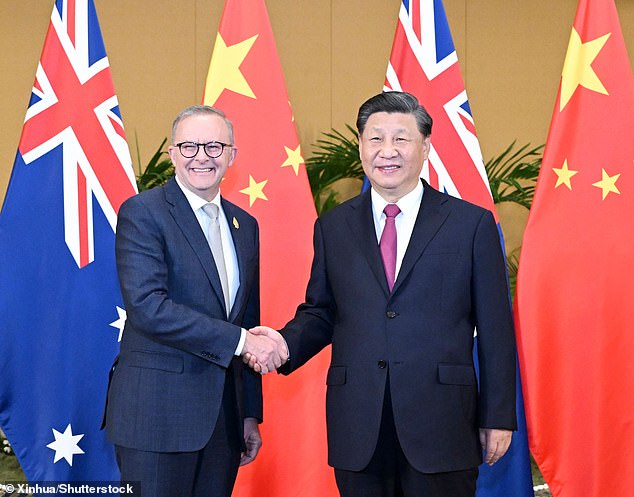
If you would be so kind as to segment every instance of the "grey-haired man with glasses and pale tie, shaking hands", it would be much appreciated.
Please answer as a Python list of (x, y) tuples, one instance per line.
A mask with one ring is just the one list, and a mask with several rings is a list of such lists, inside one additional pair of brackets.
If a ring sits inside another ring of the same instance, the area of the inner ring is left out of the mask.
[(189, 107), (172, 143), (176, 178), (119, 212), (127, 321), (106, 427), (122, 480), (143, 495), (229, 497), (261, 445), (261, 379), (239, 356), (269, 369), (286, 356), (246, 332), (260, 319), (259, 239), (255, 219), (220, 196), (237, 152), (231, 122)]

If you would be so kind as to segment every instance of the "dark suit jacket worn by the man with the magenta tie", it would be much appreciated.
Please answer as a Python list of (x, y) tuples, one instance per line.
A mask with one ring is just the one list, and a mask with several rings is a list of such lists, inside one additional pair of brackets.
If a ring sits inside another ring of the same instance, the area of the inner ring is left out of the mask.
[(391, 294), (369, 191), (320, 218), (314, 245), (306, 302), (282, 330), (291, 357), (282, 372), (332, 343), (329, 463), (350, 471), (369, 463), (389, 377), (409, 462), (422, 472), (478, 466), (478, 429), (516, 427), (515, 341), (491, 213), (425, 183)]

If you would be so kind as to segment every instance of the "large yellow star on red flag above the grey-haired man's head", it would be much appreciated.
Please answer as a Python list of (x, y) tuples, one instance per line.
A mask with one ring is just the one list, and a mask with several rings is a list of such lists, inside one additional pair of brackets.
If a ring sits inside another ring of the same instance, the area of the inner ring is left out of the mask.
[(213, 106), (224, 90), (255, 98), (253, 90), (240, 71), (240, 64), (249, 54), (257, 37), (258, 35), (255, 35), (235, 45), (227, 46), (222, 35), (218, 33), (205, 84), (205, 105)]

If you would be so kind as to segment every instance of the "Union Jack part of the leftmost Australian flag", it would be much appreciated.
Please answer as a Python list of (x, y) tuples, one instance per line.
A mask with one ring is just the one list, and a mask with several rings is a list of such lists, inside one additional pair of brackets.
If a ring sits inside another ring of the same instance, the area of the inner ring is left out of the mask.
[(91, 195), (114, 230), (119, 206), (136, 191), (96, 12), (85, 0), (55, 3), (19, 149), (30, 164), (59, 144), (66, 243), (84, 267), (94, 259)]

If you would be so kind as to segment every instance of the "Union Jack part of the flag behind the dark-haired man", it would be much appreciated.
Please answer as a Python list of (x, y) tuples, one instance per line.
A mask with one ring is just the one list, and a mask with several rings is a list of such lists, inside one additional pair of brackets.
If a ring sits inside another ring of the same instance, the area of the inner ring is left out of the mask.
[(441, 1), (403, 0), (384, 90), (416, 95), (434, 119), (423, 177), (441, 191), (495, 212)]

